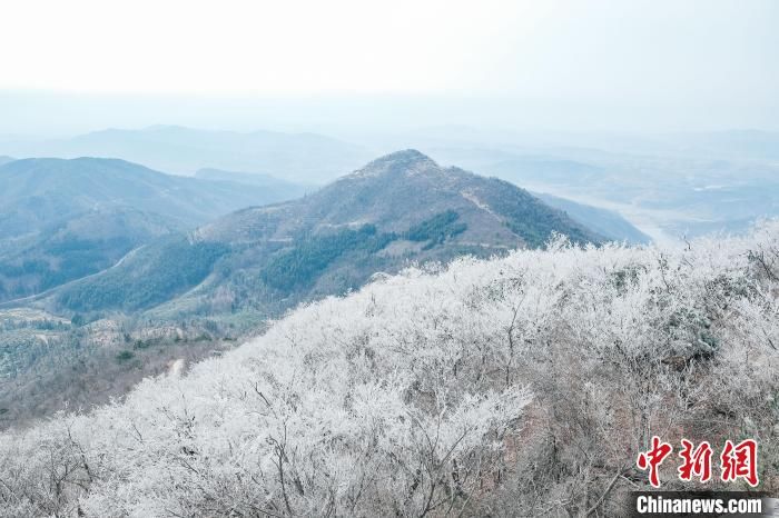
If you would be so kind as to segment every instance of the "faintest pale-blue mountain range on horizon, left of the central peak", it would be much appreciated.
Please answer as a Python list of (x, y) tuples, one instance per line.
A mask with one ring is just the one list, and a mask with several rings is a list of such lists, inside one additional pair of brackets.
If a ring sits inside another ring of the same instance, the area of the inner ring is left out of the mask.
[(107, 129), (70, 139), (0, 142), (17, 157), (114, 157), (178, 175), (204, 167), (268, 172), (324, 183), (371, 158), (359, 146), (316, 133), (210, 131), (178, 126)]

